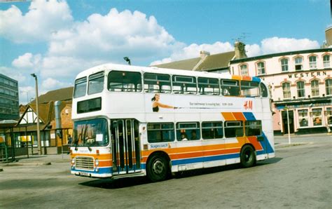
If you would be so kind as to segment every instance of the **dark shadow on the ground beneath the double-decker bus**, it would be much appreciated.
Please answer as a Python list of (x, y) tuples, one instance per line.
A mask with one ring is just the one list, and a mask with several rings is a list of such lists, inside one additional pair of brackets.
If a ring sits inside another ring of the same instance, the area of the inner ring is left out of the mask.
[[(273, 159), (268, 159), (265, 161), (259, 161), (256, 166), (264, 166), (264, 165), (269, 165), (273, 163), (278, 163), (281, 161), (282, 158), (273, 158)], [(211, 173), (217, 173), (221, 171), (226, 171), (226, 170), (235, 170), (242, 168), (240, 164), (234, 164), (234, 165), (229, 165), (229, 166), (219, 166), (215, 168), (203, 168), (203, 169), (197, 169), (197, 170), (189, 170), (189, 171), (184, 171), (184, 172), (179, 172), (173, 175), (174, 179), (181, 179), (184, 177), (193, 177), (193, 176), (198, 176), (198, 175), (205, 175), (205, 174), (211, 174)], [(97, 187), (101, 189), (120, 189), (120, 188), (125, 188), (125, 187), (134, 187), (138, 186), (141, 184), (148, 184), (151, 183), (148, 181), (146, 177), (125, 177), (122, 179), (117, 179), (117, 180), (111, 180), (111, 179), (101, 179), (101, 180), (92, 180), (89, 182), (83, 182), (80, 183), (80, 185), (86, 186), (86, 187)]]

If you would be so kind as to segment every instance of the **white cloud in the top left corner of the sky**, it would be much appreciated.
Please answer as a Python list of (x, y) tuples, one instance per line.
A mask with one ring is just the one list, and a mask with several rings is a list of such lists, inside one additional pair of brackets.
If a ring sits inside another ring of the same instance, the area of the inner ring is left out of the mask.
[(11, 6), (6, 11), (0, 11), (0, 20), (0, 36), (15, 43), (47, 41), (53, 32), (73, 24), (67, 2), (56, 0), (32, 1), (25, 14), (16, 6)]

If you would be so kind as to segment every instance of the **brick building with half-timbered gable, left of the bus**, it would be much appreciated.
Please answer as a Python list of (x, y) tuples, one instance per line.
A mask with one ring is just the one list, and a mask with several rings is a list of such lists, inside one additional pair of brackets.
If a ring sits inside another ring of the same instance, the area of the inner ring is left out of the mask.
[[(43, 154), (59, 154), (68, 150), (69, 135), (73, 133), (71, 100), (73, 88), (51, 90), (39, 96), (39, 130)], [(22, 107), (23, 108), (23, 107)], [(25, 107), (12, 137), (7, 133), (6, 144), (15, 147), (15, 155), (37, 154), (36, 103)]]

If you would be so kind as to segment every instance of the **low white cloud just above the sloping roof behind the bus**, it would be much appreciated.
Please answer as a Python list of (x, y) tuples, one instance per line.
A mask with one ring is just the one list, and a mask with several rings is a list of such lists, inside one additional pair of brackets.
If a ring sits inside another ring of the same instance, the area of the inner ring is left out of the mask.
[(172, 55), (170, 55), (169, 58), (164, 58), (162, 60), (156, 60), (154, 62), (151, 62), (150, 65), (159, 65), (162, 63), (174, 62), (177, 60), (198, 58), (200, 56), (201, 50), (206, 50), (210, 54), (216, 54), (216, 53), (224, 53), (224, 52), (234, 50), (234, 46), (232, 44), (230, 44), (229, 42), (222, 43), (220, 41), (217, 41), (216, 43), (212, 43), (212, 44), (203, 43), (201, 45), (192, 43), (190, 46), (185, 46), (183, 48), (180, 48), (179, 50), (175, 50), (172, 53)]

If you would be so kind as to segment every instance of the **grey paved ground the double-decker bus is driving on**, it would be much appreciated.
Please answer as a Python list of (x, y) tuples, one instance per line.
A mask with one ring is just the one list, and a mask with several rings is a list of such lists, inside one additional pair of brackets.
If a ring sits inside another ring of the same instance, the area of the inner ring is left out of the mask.
[(69, 155), (0, 163), (0, 208), (330, 208), (332, 136), (275, 137), (275, 159), (253, 168), (195, 170), (165, 182), (97, 180)]

